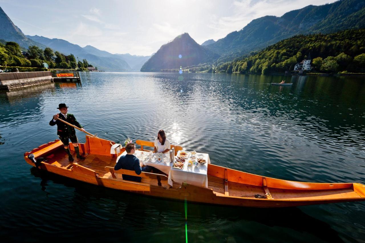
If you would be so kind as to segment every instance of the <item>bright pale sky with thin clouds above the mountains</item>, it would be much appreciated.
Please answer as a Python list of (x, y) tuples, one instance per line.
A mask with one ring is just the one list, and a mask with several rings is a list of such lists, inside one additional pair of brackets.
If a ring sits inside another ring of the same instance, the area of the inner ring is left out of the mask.
[(253, 19), (333, 0), (0, 0), (26, 35), (91, 45), (110, 53), (151, 55), (182, 33), (199, 44), (224, 38)]

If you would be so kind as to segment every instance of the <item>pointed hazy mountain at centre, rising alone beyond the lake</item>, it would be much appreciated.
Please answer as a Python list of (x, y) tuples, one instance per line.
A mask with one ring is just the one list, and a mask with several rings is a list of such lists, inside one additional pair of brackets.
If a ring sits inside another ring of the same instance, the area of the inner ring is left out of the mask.
[(211, 62), (219, 56), (199, 45), (188, 33), (181, 34), (160, 49), (142, 66), (141, 72), (158, 72)]

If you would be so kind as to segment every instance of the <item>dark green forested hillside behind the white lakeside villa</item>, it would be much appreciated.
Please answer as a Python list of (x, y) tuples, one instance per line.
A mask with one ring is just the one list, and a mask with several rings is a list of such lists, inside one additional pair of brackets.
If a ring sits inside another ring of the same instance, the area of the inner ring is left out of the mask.
[(291, 71), (311, 54), (316, 70), (364, 72), (365, 29), (332, 34), (297, 35), (249, 57), (216, 66), (216, 72), (270, 73)]

